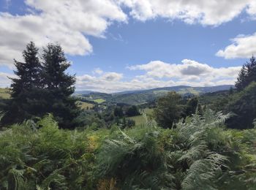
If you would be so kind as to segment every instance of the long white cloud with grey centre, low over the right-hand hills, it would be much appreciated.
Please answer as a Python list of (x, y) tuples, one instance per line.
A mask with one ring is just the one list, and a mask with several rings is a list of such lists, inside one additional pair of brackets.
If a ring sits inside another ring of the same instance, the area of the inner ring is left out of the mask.
[(197, 85), (207, 86), (207, 84), (219, 84), (234, 81), (241, 69), (241, 66), (230, 66), (214, 68), (208, 64), (184, 59), (181, 64), (168, 64), (162, 61), (151, 61), (148, 64), (128, 66), (130, 70), (144, 70), (146, 76), (157, 78), (176, 79), (178, 83), (195, 82)]

